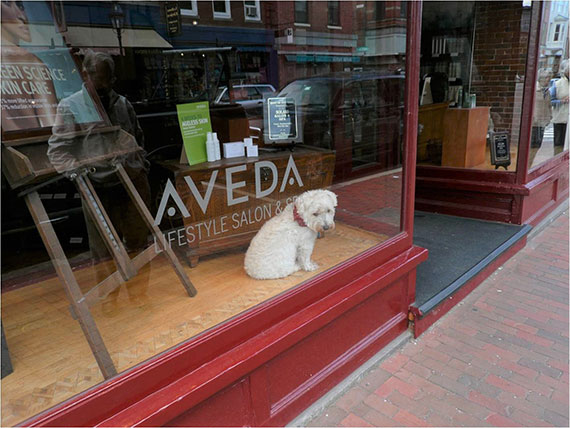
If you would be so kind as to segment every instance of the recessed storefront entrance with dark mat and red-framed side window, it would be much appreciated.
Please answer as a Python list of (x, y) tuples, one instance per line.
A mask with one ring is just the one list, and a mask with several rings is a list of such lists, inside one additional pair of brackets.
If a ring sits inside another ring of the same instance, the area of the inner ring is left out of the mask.
[(424, 4), (414, 243), (430, 255), (411, 306), (416, 336), (568, 196), (567, 104), (553, 98), (568, 81), (556, 33), (567, 7)]

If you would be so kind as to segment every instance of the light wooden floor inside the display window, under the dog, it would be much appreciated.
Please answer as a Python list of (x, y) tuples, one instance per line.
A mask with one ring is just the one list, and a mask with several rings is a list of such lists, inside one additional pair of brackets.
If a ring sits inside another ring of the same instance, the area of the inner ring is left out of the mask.
[[(317, 240), (316, 272), (256, 281), (243, 270), (243, 251), (187, 267), (198, 290), (189, 298), (170, 265), (157, 257), (123, 285), (115, 302), (92, 308), (119, 372), (274, 297), (388, 237), (337, 223)], [(95, 268), (76, 271), (86, 290)], [(14, 372), (2, 379), (2, 426), (14, 426), (103, 381), (95, 359), (70, 315), (57, 277), (2, 294), (2, 322)]]

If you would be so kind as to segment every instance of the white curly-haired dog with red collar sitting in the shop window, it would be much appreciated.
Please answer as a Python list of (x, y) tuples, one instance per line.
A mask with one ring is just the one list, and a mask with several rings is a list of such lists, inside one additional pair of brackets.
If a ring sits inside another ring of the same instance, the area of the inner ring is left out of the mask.
[(313, 271), (311, 260), (319, 232), (334, 229), (336, 195), (309, 190), (268, 220), (245, 253), (245, 271), (256, 279), (284, 278), (299, 269)]

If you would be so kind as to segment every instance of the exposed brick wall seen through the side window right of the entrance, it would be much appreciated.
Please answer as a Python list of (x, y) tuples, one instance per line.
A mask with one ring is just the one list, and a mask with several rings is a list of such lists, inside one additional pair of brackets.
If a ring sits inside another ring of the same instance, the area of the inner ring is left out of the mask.
[(476, 2), (471, 92), (490, 106), (495, 130), (518, 143), (530, 10), (521, 2)]

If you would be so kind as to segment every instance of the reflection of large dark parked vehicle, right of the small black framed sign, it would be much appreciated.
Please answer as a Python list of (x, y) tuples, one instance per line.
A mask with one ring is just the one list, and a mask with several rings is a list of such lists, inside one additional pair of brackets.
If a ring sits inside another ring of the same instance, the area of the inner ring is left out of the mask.
[(336, 151), (335, 181), (401, 163), (404, 76), (339, 73), (291, 82), (303, 143)]

